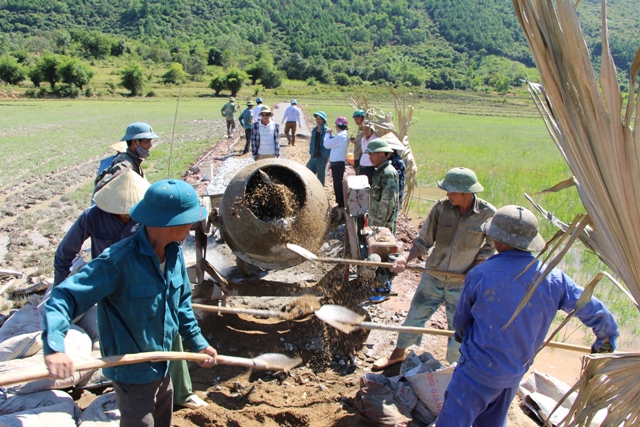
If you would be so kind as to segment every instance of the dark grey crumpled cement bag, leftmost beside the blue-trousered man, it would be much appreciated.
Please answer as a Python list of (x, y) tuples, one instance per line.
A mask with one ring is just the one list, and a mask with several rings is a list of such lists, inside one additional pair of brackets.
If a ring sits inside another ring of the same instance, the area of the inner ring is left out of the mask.
[(389, 378), (367, 373), (360, 377), (360, 390), (354, 405), (360, 413), (383, 427), (406, 427), (411, 422), (411, 409), (406, 408), (392, 387)]

